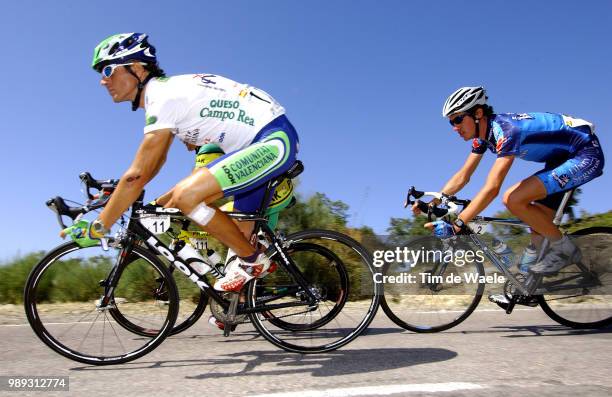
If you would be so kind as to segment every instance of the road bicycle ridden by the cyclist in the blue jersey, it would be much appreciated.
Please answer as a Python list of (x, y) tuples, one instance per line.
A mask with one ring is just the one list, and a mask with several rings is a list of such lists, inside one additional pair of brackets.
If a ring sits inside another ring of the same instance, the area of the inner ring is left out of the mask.
[[(563, 196), (554, 218), (556, 225), (560, 224), (572, 193), (568, 191)], [(423, 197), (437, 198), (442, 204), (428, 205), (420, 200)], [(470, 201), (411, 187), (406, 206), (415, 202), (431, 221), (458, 214)], [(512, 267), (505, 266), (491, 248), (488, 225), (527, 227), (518, 219), (478, 216), (470, 223), (466, 235), (410, 240), (405, 245), (407, 251), (420, 251), (423, 255), (417, 260), (386, 263), (379, 276), (387, 276), (381, 299), (387, 316), (410, 331), (444, 331), (468, 318), (478, 306), (485, 284), (497, 281), (503, 282), (509, 301), (505, 307), (508, 314), (517, 304), (539, 305), (551, 319), (568, 327), (601, 328), (612, 324), (612, 227), (590, 227), (571, 233), (569, 236), (581, 250), (582, 259), (555, 275), (542, 276), (513, 272)], [(524, 248), (528, 236), (522, 239), (515, 245)], [(546, 254), (548, 246), (545, 240), (538, 260)], [(466, 260), (468, 253), (472, 260)], [(485, 271), (485, 259), (494, 265), (492, 271)]]

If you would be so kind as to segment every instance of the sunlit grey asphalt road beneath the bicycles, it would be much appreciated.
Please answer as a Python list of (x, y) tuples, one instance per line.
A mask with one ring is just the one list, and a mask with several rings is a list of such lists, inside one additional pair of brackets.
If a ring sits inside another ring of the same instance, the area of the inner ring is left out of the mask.
[(44, 395), (612, 395), (612, 329), (571, 330), (539, 308), (508, 316), (485, 304), (438, 334), (404, 331), (380, 311), (365, 335), (319, 355), (281, 351), (247, 325), (224, 338), (201, 321), (151, 354), (111, 367), (67, 360), (19, 316), (7, 322), (0, 375), (69, 376), (69, 392)]

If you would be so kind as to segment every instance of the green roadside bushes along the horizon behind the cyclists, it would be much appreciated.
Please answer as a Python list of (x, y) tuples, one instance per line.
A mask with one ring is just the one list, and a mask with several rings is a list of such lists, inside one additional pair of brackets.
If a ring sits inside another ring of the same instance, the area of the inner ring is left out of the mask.
[[(331, 229), (347, 233), (361, 242), (375, 241), (374, 246), (385, 245), (377, 241), (374, 233), (367, 227), (349, 228), (347, 214), (348, 206), (345, 203), (332, 201), (324, 194), (317, 193), (283, 212), (279, 226), (287, 233), (307, 228)], [(411, 220), (392, 218), (391, 226), (388, 229), (390, 239), (387, 243), (401, 241), (415, 234), (429, 234), (430, 232), (422, 227), (425, 221), (425, 217), (416, 217)], [(612, 226), (612, 211), (596, 215), (584, 214), (581, 218), (564, 224), (563, 229), (572, 232), (592, 226)], [(528, 240), (528, 236), (524, 233), (516, 233), (512, 237), (508, 244), (516, 249), (518, 246), (524, 246)], [(215, 249), (219, 249), (220, 253), (225, 252), (222, 247), (215, 245), (214, 239), (211, 239), (210, 242)], [(370, 249), (373, 248), (369, 244), (368, 246)], [(360, 258), (354, 257), (354, 254), (345, 247), (336, 245), (333, 248), (339, 250), (336, 254), (342, 257), (349, 270), (352, 285), (359, 285), (363, 276), (362, 269), (358, 265)], [(23, 288), (28, 274), (44, 255), (44, 252), (34, 252), (0, 265), (0, 304), (23, 302)], [(99, 281), (107, 276), (111, 266), (112, 260), (103, 256), (71, 258), (59, 264), (56, 263), (41, 280), (38, 296), (41, 300), (52, 302), (97, 299), (100, 294)], [(142, 266), (138, 260), (132, 262), (121, 278), (116, 295), (130, 301), (150, 299), (151, 291), (157, 285), (155, 281), (157, 274), (152, 270), (150, 266)], [(187, 278), (178, 274), (176, 280), (181, 290), (189, 290), (191, 282)], [(57, 286), (69, 286), (69, 288), (57, 288)], [(194, 299), (197, 298), (199, 291), (193, 288), (191, 290), (195, 291), (192, 292)], [(358, 294), (358, 289), (351, 290), (351, 295)]]

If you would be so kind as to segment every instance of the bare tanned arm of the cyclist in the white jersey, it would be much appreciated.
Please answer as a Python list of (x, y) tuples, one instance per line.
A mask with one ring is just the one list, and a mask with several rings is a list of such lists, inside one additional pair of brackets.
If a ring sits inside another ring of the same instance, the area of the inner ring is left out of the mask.
[(157, 174), (166, 161), (172, 138), (170, 129), (145, 134), (132, 165), (121, 177), (117, 189), (100, 214), (99, 219), (105, 227), (110, 228), (119, 219)]

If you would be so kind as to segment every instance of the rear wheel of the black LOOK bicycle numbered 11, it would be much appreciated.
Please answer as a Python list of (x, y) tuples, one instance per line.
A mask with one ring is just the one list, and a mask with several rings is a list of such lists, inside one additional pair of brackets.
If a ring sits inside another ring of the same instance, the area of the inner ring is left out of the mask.
[[(249, 284), (248, 307), (268, 307), (249, 315), (255, 328), (274, 345), (298, 353), (334, 350), (358, 337), (376, 315), (380, 298), (367, 250), (348, 236), (326, 230), (295, 233), (285, 246), (283, 253), (270, 254), (279, 264), (276, 272)], [(295, 262), (310, 290), (320, 296), (313, 306), (303, 304), (304, 290), (280, 265), (283, 255)], [(276, 294), (273, 301), (262, 295), (266, 288)], [(283, 288), (291, 292), (283, 293)], [(282, 303), (298, 306), (272, 306)]]

